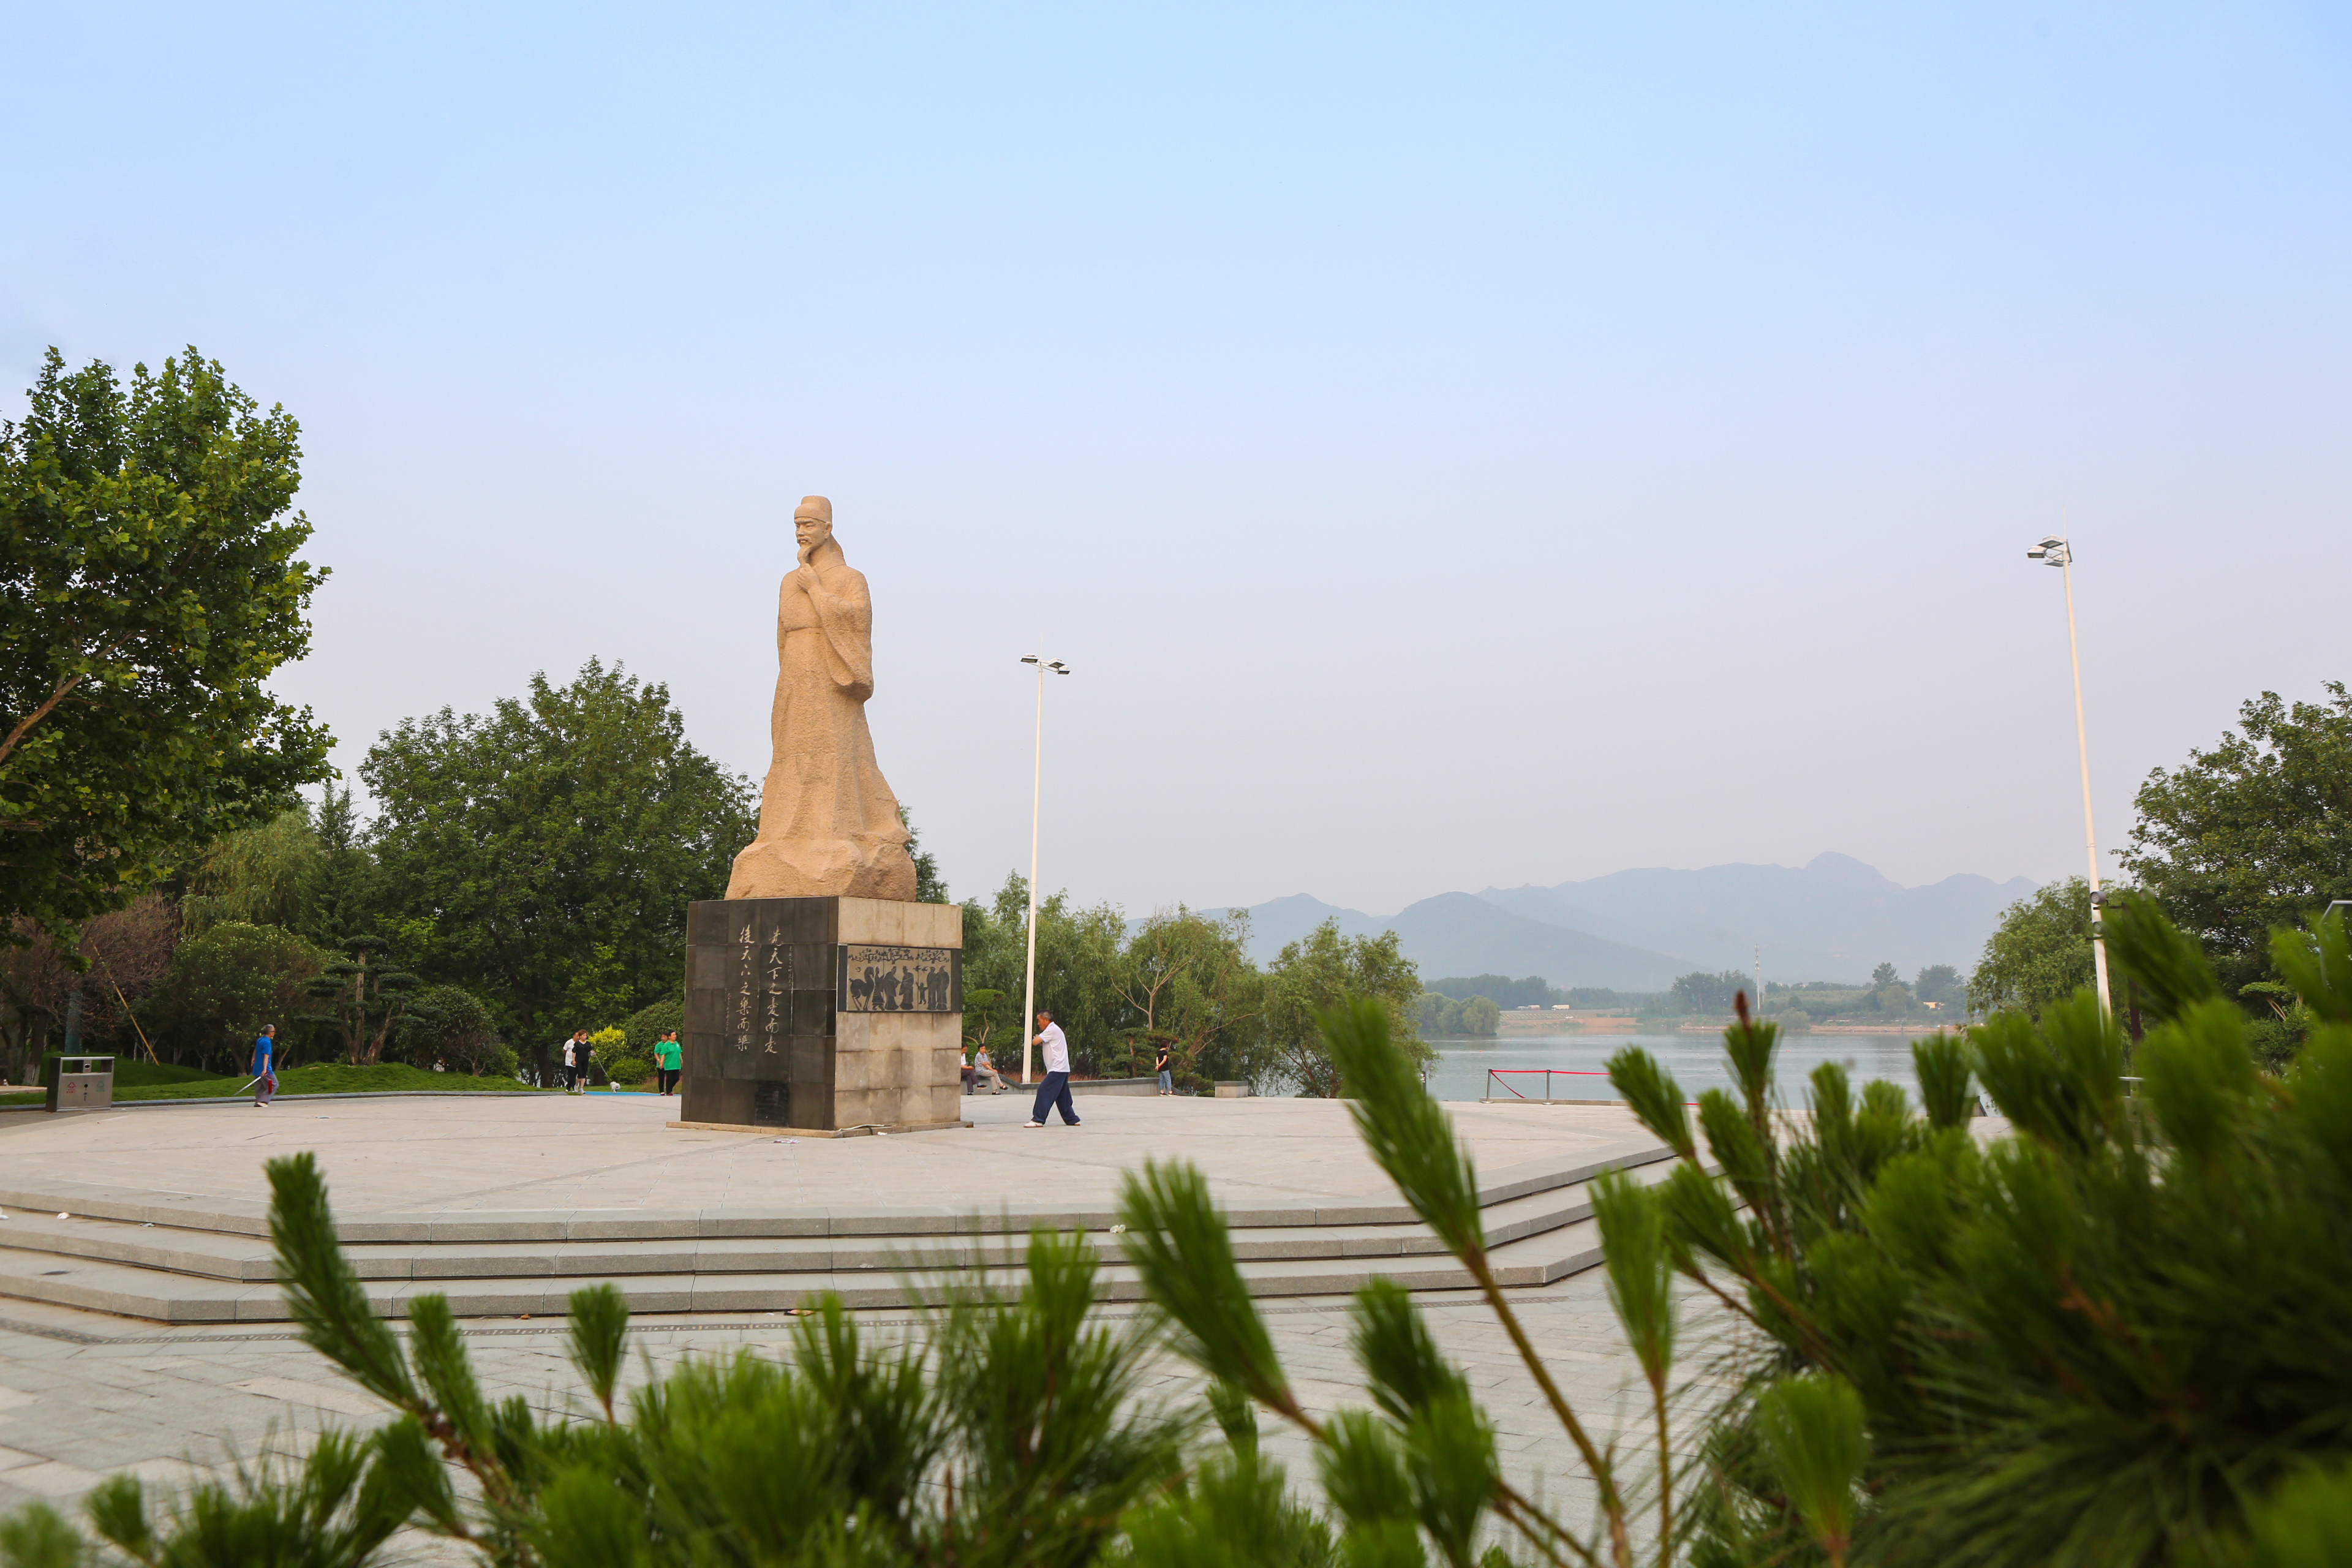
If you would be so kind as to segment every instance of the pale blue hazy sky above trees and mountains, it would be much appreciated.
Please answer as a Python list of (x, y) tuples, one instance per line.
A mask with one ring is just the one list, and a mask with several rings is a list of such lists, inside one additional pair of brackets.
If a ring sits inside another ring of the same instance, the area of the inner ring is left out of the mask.
[(303, 421), (374, 733), (767, 766), (790, 510), (957, 896), (2082, 867), (2352, 677), (2338, 5), (5, 5), (0, 407)]

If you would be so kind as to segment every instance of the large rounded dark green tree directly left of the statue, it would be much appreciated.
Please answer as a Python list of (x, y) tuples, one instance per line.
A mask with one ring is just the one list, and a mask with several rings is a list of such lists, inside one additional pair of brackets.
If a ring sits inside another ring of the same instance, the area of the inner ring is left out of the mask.
[(372, 898), (402, 959), (485, 997), (546, 1067), (555, 1032), (684, 985), (687, 903), (750, 842), (750, 780), (684, 738), (670, 689), (588, 661), (487, 715), (440, 710), (360, 764)]

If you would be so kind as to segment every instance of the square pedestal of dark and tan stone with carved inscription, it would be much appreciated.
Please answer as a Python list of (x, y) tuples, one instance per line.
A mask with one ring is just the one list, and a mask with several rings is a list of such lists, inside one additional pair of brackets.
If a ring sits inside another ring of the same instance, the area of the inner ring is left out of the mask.
[(809, 1131), (953, 1124), (962, 1011), (957, 905), (687, 905), (682, 1119)]

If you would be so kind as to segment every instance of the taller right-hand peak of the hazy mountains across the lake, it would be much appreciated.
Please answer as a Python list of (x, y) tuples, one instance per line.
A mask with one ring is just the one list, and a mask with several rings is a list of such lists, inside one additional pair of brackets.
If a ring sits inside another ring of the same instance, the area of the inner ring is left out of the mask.
[(1992, 926), (2034, 891), (2025, 877), (1945, 877), (1900, 886), (1851, 856), (1795, 865), (1635, 870), (1559, 886), (1486, 889), (1486, 903), (1618, 943), (1679, 952), (1703, 969), (1750, 969), (1764, 947), (1769, 980), (1863, 980), (1886, 961), (1966, 971)]

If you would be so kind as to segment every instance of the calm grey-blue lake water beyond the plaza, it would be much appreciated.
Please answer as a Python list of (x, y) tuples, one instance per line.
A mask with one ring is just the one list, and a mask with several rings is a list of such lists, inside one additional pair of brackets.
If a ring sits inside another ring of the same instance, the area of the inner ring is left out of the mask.
[[(1430, 1093), (1439, 1100), (1479, 1100), (1486, 1093), (1505, 1098), (1501, 1084), (1508, 1081), (1529, 1100), (1543, 1098), (1541, 1074), (1501, 1079), (1486, 1086), (1489, 1067), (1552, 1067), (1555, 1072), (1592, 1077), (1552, 1077), (1555, 1100), (1616, 1100), (1609, 1086), (1609, 1058), (1625, 1046), (1642, 1046), (1682, 1084), (1684, 1098), (1696, 1100), (1700, 1088), (1731, 1088), (1731, 1070), (1724, 1063), (1722, 1034), (1517, 1034), (1503, 1039), (1432, 1039), (1437, 1065), (1430, 1070)], [(1870, 1079), (1886, 1079), (1919, 1103), (1919, 1081), (1912, 1072), (1910, 1037), (1905, 1034), (1783, 1034), (1773, 1053), (1773, 1081), (1783, 1103), (1806, 1105), (1806, 1074), (1820, 1063), (1842, 1063), (1853, 1079), (1856, 1095)]]

